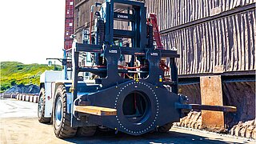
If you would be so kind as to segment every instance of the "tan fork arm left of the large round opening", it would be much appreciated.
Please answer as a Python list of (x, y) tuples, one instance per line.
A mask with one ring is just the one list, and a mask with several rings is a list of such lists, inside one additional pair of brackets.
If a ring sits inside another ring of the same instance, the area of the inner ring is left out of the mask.
[(74, 110), (86, 113), (86, 114), (94, 114), (94, 115), (117, 115), (117, 110), (107, 107), (100, 106), (74, 106)]

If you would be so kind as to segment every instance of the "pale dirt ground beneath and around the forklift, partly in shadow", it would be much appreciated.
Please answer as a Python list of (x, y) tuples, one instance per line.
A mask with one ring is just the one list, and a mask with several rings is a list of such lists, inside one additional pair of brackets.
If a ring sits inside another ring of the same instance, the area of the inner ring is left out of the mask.
[[(166, 134), (144, 134), (142, 136), (130, 136), (128, 134), (114, 134), (113, 132), (101, 132), (92, 138), (67, 138), (59, 139), (54, 135), (53, 126), (38, 122), (36, 113), (33, 115), (23, 113), (29, 110), (31, 103), (16, 101), (13, 99), (0, 99), (0, 143), (254, 143), (246, 139), (223, 136), (220, 134), (206, 133), (202, 131), (184, 130), (172, 128)], [(21, 107), (23, 109), (18, 109)], [(9, 107), (7, 107), (9, 106)], [(16, 107), (15, 107), (16, 106)], [(31, 109), (34, 110), (36, 104)], [(8, 109), (8, 110), (7, 110)], [(13, 114), (2, 113), (12, 111)], [(23, 117), (14, 114), (21, 111)], [(3, 117), (5, 116), (5, 117)], [(32, 117), (33, 116), (33, 117)]]

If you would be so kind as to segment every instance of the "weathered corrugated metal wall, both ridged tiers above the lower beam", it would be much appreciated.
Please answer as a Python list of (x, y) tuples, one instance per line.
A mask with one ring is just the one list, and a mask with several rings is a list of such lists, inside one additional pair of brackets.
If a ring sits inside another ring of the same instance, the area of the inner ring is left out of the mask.
[(146, 0), (148, 12), (158, 15), (166, 49), (177, 48), (178, 74), (208, 74), (256, 70), (255, 9), (185, 26), (213, 15), (248, 6), (255, 0)]

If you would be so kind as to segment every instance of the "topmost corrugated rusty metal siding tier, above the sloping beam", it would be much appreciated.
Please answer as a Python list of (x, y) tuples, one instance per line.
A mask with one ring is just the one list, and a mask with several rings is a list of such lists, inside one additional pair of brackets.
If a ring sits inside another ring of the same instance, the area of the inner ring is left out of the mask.
[(147, 12), (158, 14), (160, 30), (220, 14), (256, 0), (146, 0)]

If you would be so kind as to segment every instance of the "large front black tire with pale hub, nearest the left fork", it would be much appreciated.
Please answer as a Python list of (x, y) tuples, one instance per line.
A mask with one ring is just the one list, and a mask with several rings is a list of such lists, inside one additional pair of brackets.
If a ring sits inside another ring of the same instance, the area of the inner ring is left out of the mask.
[[(55, 109), (58, 100), (61, 101), (61, 120), (56, 119)], [(58, 86), (54, 99), (53, 125), (54, 134), (57, 138), (71, 138), (77, 132), (77, 128), (70, 126), (71, 115), (66, 111), (66, 88), (63, 85)]]

